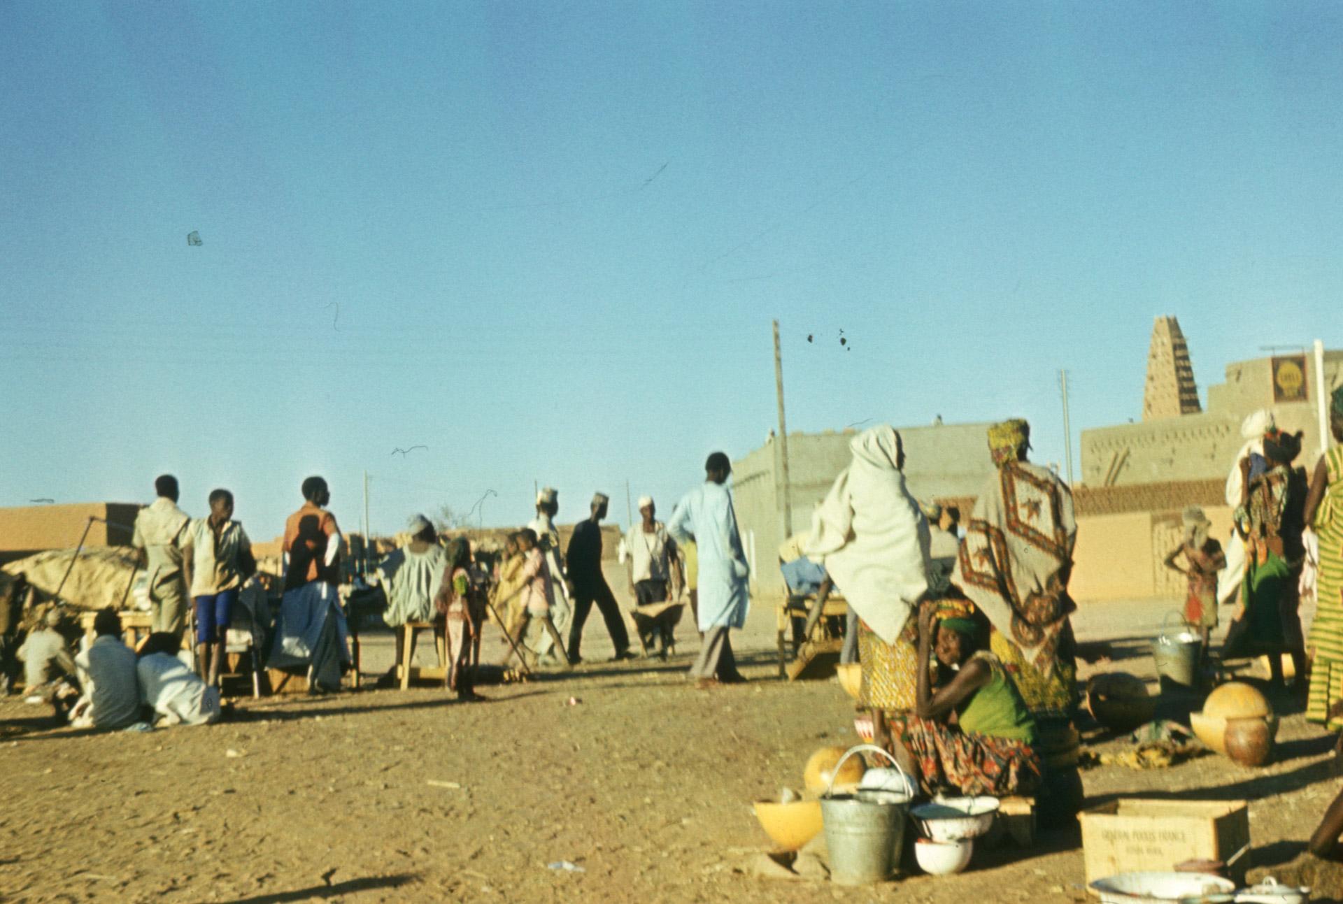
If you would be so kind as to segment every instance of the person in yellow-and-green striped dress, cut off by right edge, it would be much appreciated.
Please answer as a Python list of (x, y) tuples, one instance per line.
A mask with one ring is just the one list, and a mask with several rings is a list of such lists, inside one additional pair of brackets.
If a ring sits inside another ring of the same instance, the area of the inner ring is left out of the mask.
[[(1330, 431), (1343, 442), (1343, 387), (1334, 390)], [(1305, 497), (1305, 524), (1319, 540), (1315, 621), (1307, 645), (1313, 651), (1305, 719), (1343, 732), (1343, 446), (1334, 446), (1315, 466)], [(1343, 762), (1343, 733), (1334, 748)]]

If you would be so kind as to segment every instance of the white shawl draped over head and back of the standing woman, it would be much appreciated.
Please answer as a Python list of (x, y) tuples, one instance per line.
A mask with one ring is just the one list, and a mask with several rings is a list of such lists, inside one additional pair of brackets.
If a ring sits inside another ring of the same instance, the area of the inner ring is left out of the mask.
[(849, 449), (853, 461), (813, 516), (806, 552), (821, 557), (868, 627), (894, 643), (928, 590), (928, 518), (896, 466), (900, 435), (892, 427), (865, 430)]

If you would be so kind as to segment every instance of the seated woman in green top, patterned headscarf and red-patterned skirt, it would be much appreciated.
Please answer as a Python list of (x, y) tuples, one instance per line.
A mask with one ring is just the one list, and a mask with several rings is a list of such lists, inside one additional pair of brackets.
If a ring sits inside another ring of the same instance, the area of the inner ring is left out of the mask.
[(901, 741), (929, 793), (1030, 794), (1041, 778), (1035, 720), (980, 634), (970, 600), (920, 607), (916, 707)]

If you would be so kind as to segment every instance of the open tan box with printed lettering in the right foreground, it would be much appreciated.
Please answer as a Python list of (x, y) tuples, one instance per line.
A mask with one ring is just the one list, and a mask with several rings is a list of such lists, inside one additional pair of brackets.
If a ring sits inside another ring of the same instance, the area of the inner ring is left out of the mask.
[(1151, 801), (1131, 798), (1086, 810), (1082, 856), (1086, 883), (1143, 870), (1167, 872), (1186, 860), (1221, 860), (1244, 884), (1250, 818), (1245, 801)]

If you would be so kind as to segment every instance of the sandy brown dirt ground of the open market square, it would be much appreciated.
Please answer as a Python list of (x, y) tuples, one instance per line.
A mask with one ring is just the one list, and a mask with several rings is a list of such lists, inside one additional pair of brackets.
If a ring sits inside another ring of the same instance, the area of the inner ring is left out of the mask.
[[(1168, 606), (1091, 604), (1091, 670), (1152, 676), (1146, 641)], [(751, 802), (800, 787), (808, 754), (857, 743), (833, 680), (775, 677), (774, 614), (737, 635), (749, 684), (697, 692), (697, 643), (670, 662), (595, 662), (486, 686), (238, 700), (232, 721), (150, 733), (51, 728), (0, 701), (0, 899), (7, 901), (1030, 901), (1084, 900), (1080, 834), (976, 852), (959, 876), (862, 889), (759, 878), (770, 842)], [(1104, 641), (1104, 645), (1100, 642)], [(486, 651), (497, 651), (497, 638)], [(389, 664), (365, 643), (365, 672)], [(584, 653), (610, 641), (594, 615)], [(572, 698), (572, 703), (571, 703)], [(1163, 709), (1168, 709), (1163, 704)], [(1252, 876), (1293, 869), (1338, 790), (1332, 740), (1284, 719), (1277, 758), (1210, 755), (1082, 774), (1088, 806), (1116, 797), (1249, 799)], [(1172, 713), (1178, 715), (1178, 713)], [(1099, 739), (1093, 750), (1120, 750)], [(569, 861), (583, 872), (551, 869)]]

